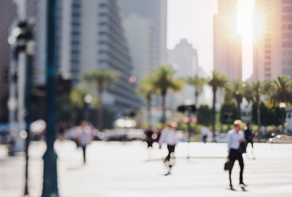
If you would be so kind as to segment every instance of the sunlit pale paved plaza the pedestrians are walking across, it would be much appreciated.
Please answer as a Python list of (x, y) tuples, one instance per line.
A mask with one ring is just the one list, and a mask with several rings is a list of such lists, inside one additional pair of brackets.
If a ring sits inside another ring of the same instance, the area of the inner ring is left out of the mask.
[[(29, 147), (29, 196), (41, 196), (45, 142)], [(180, 142), (171, 174), (161, 158), (166, 146), (147, 151), (145, 142), (92, 142), (82, 150), (72, 141), (56, 141), (58, 189), (61, 197), (94, 196), (292, 196), (292, 144), (254, 144), (244, 154), (244, 182), (239, 183), (239, 166), (232, 170), (236, 191), (229, 189), (225, 143)], [(0, 146), (0, 196), (19, 197), (24, 192), (25, 156), (10, 157)], [(190, 154), (190, 158), (187, 158)]]

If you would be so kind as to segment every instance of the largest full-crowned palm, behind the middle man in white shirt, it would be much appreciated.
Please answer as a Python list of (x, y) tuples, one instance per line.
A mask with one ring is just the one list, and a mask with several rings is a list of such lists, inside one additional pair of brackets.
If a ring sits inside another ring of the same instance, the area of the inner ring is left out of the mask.
[(151, 73), (153, 78), (153, 86), (160, 93), (162, 97), (162, 118), (161, 122), (165, 122), (165, 96), (168, 89), (173, 92), (178, 92), (183, 89), (184, 81), (180, 79), (174, 79), (174, 74), (176, 71), (167, 64), (160, 64), (157, 69), (153, 70)]

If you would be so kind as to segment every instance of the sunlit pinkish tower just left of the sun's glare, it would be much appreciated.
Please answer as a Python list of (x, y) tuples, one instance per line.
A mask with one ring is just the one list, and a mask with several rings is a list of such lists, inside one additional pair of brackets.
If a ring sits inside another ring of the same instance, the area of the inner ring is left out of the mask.
[(236, 1), (218, 0), (214, 15), (214, 70), (231, 81), (242, 79), (241, 35), (237, 34)]

